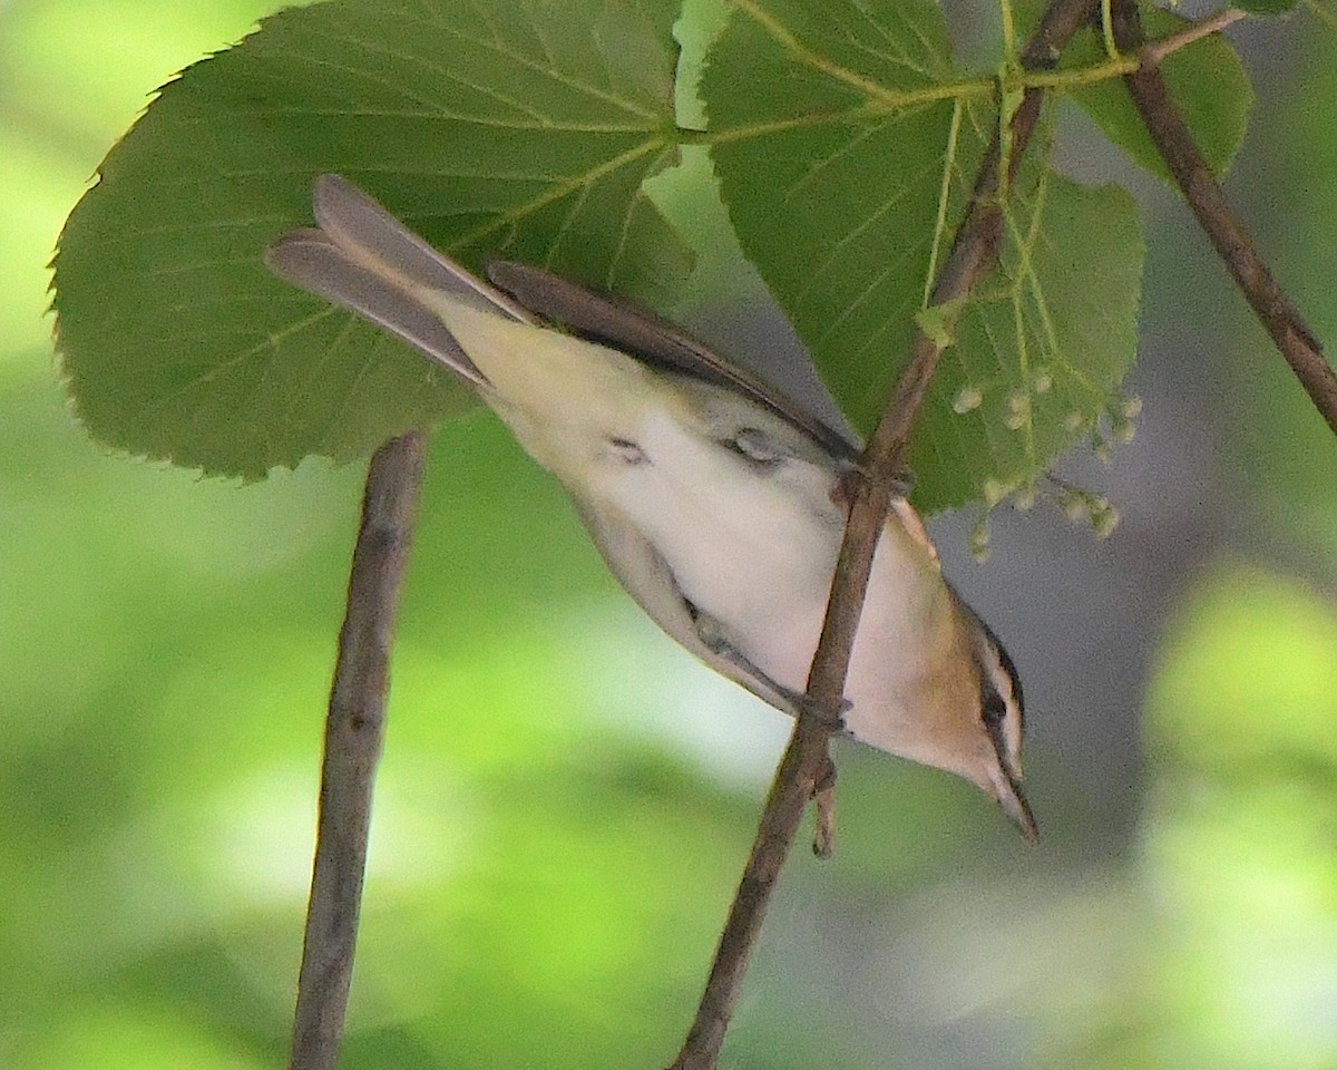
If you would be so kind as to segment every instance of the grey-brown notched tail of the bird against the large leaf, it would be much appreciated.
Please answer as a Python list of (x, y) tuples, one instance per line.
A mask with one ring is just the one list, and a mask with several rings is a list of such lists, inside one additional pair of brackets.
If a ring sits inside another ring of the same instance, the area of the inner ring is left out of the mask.
[(265, 254), (281, 278), (380, 324), (475, 387), (487, 379), (443, 321), (443, 298), (533, 324), (495, 286), (467, 272), (338, 175), (316, 179), (316, 223)]

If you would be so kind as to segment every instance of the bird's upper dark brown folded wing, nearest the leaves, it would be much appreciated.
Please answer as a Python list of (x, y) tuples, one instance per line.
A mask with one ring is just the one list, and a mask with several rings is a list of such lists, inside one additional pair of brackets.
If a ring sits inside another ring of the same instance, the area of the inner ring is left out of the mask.
[(646, 364), (725, 387), (775, 413), (833, 457), (858, 459), (857, 443), (651, 312), (525, 263), (493, 261), (488, 278), (550, 322)]

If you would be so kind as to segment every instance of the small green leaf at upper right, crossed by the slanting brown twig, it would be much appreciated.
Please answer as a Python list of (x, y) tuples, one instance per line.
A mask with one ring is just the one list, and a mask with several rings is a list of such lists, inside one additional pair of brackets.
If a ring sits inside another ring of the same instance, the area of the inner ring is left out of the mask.
[[(1142, 27), (1147, 40), (1170, 37), (1191, 25), (1169, 11), (1142, 7)], [(1084, 29), (1063, 52), (1063, 67), (1082, 68), (1106, 58), (1098, 29)], [(1161, 64), (1170, 96), (1179, 108), (1203, 156), (1218, 175), (1226, 173), (1243, 143), (1253, 110), (1253, 86), (1239, 54), (1221, 33), (1173, 52)], [(1120, 79), (1098, 82), (1072, 90), (1072, 99), (1140, 167), (1161, 181), (1174, 178), (1152, 144), (1142, 116), (1132, 106)]]

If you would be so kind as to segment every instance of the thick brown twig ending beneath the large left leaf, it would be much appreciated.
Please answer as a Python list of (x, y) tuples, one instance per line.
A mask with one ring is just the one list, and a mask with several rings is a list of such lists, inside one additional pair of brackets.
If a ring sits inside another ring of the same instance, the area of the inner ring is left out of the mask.
[(413, 542), (424, 444), (382, 445), (366, 472), (348, 607), (325, 721), (321, 811), (290, 1070), (333, 1070), (344, 1038), (372, 786), (385, 733), (390, 643)]

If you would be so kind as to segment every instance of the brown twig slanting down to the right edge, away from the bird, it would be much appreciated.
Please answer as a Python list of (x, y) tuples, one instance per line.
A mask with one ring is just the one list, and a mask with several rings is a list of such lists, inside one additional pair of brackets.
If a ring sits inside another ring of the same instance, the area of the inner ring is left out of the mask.
[(1322, 345), (1267, 270), (1253, 237), (1230, 207), (1221, 183), (1203, 159), (1166, 88), (1157, 67), (1157, 54), (1143, 44), (1136, 5), (1131, 0), (1115, 0), (1112, 15), (1115, 43), (1120, 49), (1136, 54), (1142, 62), (1139, 70), (1124, 76), (1124, 84), (1151, 140), (1235, 285), (1328, 427), (1337, 433), (1337, 373), (1324, 357)]

